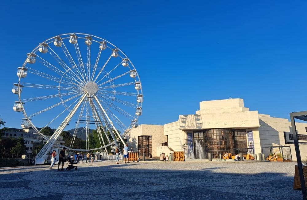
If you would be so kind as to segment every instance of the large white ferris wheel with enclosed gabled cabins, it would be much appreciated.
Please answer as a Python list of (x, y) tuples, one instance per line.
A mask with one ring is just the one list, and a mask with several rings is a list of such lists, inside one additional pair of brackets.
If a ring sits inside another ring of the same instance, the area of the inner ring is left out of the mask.
[[(48, 140), (36, 163), (44, 162), (69, 123), (75, 131), (68, 149), (107, 150), (119, 142), (125, 145), (123, 137), (138, 126), (142, 115), (137, 70), (122, 50), (94, 35), (62, 34), (45, 40), (27, 54), (17, 76), (13, 110), (24, 114), (23, 128), (32, 127)], [(50, 138), (41, 133), (48, 126), (57, 127)], [(74, 148), (81, 126), (86, 130), (86, 149)], [(90, 129), (97, 130), (98, 148), (90, 146)]]

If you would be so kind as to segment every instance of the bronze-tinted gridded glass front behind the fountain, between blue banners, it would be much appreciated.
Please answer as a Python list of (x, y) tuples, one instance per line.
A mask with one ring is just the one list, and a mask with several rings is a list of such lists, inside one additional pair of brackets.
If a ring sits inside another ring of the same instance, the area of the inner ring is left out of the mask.
[(235, 154), (235, 148), (247, 148), (245, 129), (206, 129), (193, 131), (195, 158), (219, 158), (219, 154)]

